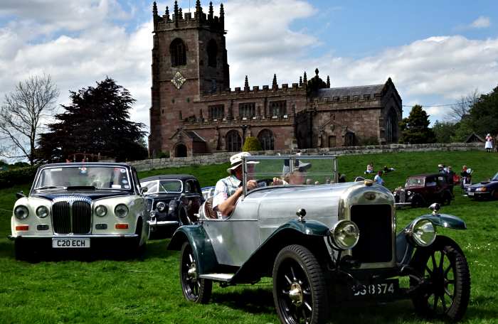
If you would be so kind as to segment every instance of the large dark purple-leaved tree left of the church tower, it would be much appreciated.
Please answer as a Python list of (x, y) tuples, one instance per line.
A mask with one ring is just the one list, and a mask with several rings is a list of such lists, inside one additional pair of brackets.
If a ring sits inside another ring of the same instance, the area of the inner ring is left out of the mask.
[(55, 115), (57, 122), (48, 125), (50, 132), (41, 134), (39, 161), (62, 162), (72, 153), (101, 153), (117, 161), (147, 155), (140, 144), (145, 125), (128, 120), (136, 100), (115, 80), (107, 77), (97, 87), (71, 91), (70, 99), (70, 105), (61, 105), (65, 112)]

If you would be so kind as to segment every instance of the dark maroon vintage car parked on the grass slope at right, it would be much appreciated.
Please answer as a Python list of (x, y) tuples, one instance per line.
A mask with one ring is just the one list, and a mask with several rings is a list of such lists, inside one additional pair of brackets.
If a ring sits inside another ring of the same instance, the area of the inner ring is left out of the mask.
[(450, 205), (452, 194), (443, 173), (413, 175), (408, 178), (407, 187), (395, 191), (396, 207), (410, 205), (423, 207), (438, 202)]

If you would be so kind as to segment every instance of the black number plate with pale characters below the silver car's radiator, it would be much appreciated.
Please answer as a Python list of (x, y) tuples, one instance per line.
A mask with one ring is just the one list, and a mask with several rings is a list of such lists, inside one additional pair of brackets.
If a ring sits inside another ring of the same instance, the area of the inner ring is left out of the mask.
[(348, 296), (351, 299), (382, 299), (396, 298), (399, 296), (399, 280), (386, 279), (374, 281), (359, 281), (361, 289), (355, 289), (354, 285), (348, 282)]

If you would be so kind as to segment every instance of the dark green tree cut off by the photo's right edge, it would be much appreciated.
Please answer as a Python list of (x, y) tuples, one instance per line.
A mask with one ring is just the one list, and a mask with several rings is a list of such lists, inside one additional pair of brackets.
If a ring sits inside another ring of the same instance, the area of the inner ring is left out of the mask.
[(498, 134), (498, 87), (472, 104), (470, 117), (477, 134)]

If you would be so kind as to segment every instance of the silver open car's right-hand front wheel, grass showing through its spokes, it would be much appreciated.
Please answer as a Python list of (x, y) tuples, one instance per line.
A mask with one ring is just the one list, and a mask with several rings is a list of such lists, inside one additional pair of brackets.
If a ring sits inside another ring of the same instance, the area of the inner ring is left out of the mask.
[(411, 263), (432, 284), (430, 291), (413, 298), (415, 310), (430, 318), (460, 320), (470, 299), (470, 273), (458, 244), (437, 237), (429, 247), (419, 247)]

